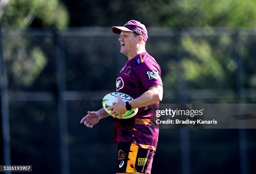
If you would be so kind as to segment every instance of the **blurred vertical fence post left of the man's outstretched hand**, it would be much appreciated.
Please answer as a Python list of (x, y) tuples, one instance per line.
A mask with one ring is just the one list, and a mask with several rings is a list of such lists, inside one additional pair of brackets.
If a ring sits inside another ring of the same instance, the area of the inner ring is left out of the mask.
[(67, 90), (66, 63), (64, 54), (64, 39), (60, 32), (55, 33), (56, 64), (57, 64), (57, 87), (58, 87), (58, 115), (59, 115), (59, 145), (61, 174), (69, 174), (69, 144), (68, 144), (68, 116), (67, 101), (64, 93)]

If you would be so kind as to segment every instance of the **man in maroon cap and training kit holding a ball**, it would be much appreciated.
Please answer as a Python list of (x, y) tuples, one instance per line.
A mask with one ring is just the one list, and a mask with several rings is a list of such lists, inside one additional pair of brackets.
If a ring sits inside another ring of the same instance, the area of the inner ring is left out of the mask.
[[(116, 172), (150, 174), (159, 133), (159, 129), (153, 126), (151, 107), (162, 100), (161, 69), (145, 50), (148, 38), (145, 25), (130, 20), (122, 27), (112, 27), (112, 31), (120, 34), (120, 52), (128, 57), (116, 80), (116, 91), (134, 98), (125, 103), (117, 96), (118, 102), (108, 108), (113, 109), (110, 115), (115, 117), (114, 141), (118, 143)], [(138, 108), (134, 117), (120, 119), (125, 111), (134, 108)], [(90, 128), (108, 116), (103, 108), (87, 113), (81, 123)]]

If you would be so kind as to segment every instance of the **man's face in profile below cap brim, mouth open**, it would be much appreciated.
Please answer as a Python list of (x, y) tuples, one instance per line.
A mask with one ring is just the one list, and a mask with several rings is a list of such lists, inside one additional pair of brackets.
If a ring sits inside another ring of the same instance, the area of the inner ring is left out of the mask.
[(138, 37), (134, 36), (133, 32), (121, 31), (119, 41), (120, 52), (125, 55), (133, 54), (138, 50)]

